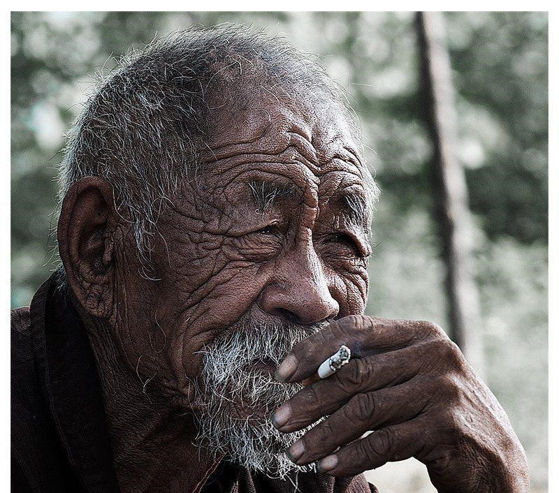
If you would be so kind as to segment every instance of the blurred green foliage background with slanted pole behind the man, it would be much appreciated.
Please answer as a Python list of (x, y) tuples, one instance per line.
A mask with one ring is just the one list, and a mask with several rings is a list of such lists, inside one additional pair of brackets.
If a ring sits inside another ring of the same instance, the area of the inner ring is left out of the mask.
[[(546, 492), (548, 17), (435, 17), (12, 13), (12, 306), (57, 263), (57, 164), (94, 74), (177, 27), (265, 28), (319, 54), (361, 119), (382, 189), (368, 313), (436, 321), (460, 341), (528, 453), (532, 492)], [(368, 479), (382, 493), (435, 491), (414, 459)]]

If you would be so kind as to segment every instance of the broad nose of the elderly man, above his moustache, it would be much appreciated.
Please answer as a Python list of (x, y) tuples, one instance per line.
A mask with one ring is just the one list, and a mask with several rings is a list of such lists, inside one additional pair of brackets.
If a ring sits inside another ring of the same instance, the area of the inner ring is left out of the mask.
[(340, 311), (314, 249), (293, 251), (277, 265), (276, 273), (275, 281), (259, 299), (266, 313), (309, 325), (334, 318)]

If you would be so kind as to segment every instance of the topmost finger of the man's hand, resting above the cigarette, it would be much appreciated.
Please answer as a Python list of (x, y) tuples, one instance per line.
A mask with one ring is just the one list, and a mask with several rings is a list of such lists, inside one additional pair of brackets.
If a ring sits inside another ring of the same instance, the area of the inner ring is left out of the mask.
[(351, 349), (352, 358), (361, 358), (404, 348), (426, 337), (446, 336), (430, 322), (347, 316), (300, 341), (279, 365), (275, 378), (288, 383), (310, 377), (342, 344)]

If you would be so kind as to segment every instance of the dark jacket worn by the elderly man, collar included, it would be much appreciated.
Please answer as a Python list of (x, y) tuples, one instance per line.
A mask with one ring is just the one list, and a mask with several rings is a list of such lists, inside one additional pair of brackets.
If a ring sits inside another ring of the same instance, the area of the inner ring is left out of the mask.
[[(94, 356), (77, 311), (57, 288), (57, 274), (39, 288), (30, 308), (12, 311), (11, 328), (12, 491), (119, 492)], [(193, 491), (294, 491), (289, 481), (226, 462), (204, 477)], [(298, 491), (377, 490), (363, 476), (300, 473)]]

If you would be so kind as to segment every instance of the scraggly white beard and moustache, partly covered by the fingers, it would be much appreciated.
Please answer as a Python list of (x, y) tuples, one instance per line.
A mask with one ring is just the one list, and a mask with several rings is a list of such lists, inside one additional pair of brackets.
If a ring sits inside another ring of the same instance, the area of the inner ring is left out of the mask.
[(229, 460), (270, 478), (313, 470), (312, 464), (293, 464), (285, 450), (317, 423), (298, 432), (282, 433), (270, 419), (273, 411), (303, 385), (279, 383), (273, 373), (254, 364), (271, 360), (277, 367), (293, 346), (320, 328), (243, 323), (242, 328), (228, 330), (205, 346), (201, 385), (195, 386), (196, 445), (216, 455), (226, 454)]

